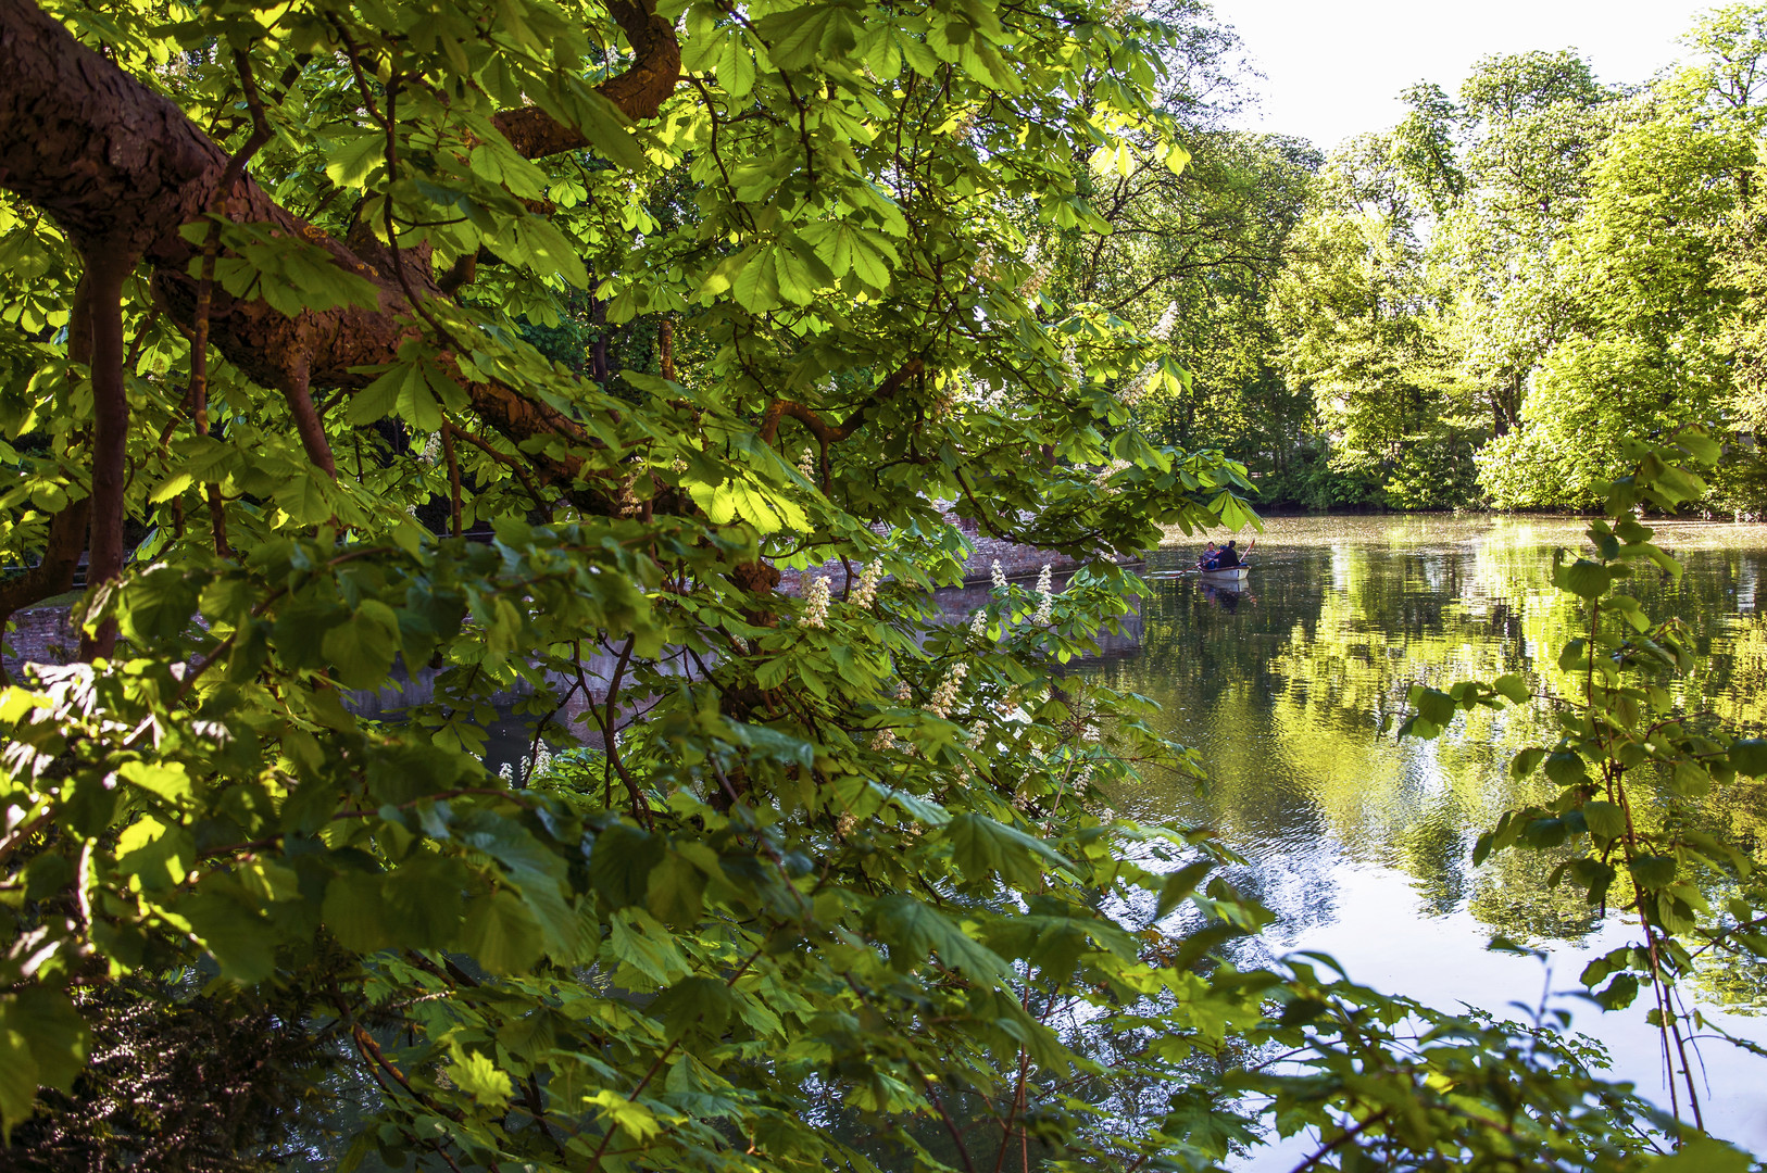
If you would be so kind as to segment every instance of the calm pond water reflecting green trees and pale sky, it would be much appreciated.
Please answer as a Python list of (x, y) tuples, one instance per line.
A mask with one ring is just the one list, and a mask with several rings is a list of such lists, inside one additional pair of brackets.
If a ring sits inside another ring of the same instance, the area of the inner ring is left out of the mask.
[[(1581, 546), (1581, 530), (1574, 519), (1270, 519), (1246, 594), (1154, 581), (1140, 652), (1092, 671), (1159, 701), (1172, 737), (1207, 756), (1200, 790), (1149, 777), (1111, 800), (1134, 818), (1221, 830), (1248, 859), (1230, 878), (1278, 915), (1256, 949), (1329, 952), (1359, 982), (1451, 1010), (1523, 1018), (1511, 1003), (1532, 1009), (1544, 996), (1608, 1048), (1615, 1078), (1666, 1104), (1643, 1005), (1604, 1014), (1576, 996), (1583, 965), (1633, 940), (1627, 927), (1550, 890), (1553, 862), (1537, 853), (1472, 866), (1477, 834), (1537, 797), (1507, 763), (1546, 735), (1543, 714), (1472, 714), (1440, 742), (1392, 737), (1412, 684), (1505, 671), (1558, 684), (1557, 654), (1576, 620), (1550, 585), (1551, 551)], [(1760, 731), (1767, 526), (1665, 525), (1657, 542), (1687, 572), (1638, 594), (1696, 632), (1700, 666), (1682, 700)], [(1149, 571), (1193, 565), (1194, 549), (1156, 551)], [(1716, 791), (1710, 818), (1744, 844), (1767, 839), (1767, 784)], [(1497, 935), (1544, 961), (1490, 950)], [(1703, 973), (1691, 993), (1730, 1033), (1767, 1041), (1767, 1018), (1756, 1018), (1767, 966)], [(1700, 1049), (1707, 1127), (1767, 1152), (1767, 1062), (1719, 1041)], [(1285, 1147), (1249, 1168), (1292, 1164)]]

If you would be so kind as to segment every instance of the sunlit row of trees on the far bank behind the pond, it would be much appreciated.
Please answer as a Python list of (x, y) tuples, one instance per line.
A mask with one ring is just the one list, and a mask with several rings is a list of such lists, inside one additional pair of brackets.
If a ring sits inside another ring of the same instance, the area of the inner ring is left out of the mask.
[(1067, 240), (1051, 284), (1141, 325), (1173, 307), (1189, 378), (1138, 417), (1244, 459), (1269, 505), (1592, 509), (1626, 436), (1702, 426), (1728, 459), (1682, 509), (1758, 516), (1767, 14), (1686, 48), (1642, 87), (1491, 57), (1320, 157), (1223, 129), (1248, 83), (1193, 37), (1228, 83), (1182, 108), (1191, 170), (1103, 187), (1115, 235)]

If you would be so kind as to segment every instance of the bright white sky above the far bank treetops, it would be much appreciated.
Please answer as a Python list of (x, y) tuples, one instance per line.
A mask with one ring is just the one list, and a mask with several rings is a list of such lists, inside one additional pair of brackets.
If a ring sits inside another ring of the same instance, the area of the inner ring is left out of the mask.
[(1574, 48), (1608, 83), (1643, 81), (1682, 57), (1710, 0), (1214, 0), (1265, 74), (1248, 129), (1331, 150), (1405, 117), (1399, 90), (1454, 94), (1481, 57)]

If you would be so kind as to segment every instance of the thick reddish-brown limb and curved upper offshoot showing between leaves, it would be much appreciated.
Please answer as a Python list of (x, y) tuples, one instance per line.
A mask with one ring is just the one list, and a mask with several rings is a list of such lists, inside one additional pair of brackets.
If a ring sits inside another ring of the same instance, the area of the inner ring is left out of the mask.
[[(673, 26), (629, 0), (613, 0), (610, 12), (636, 60), (603, 83), (601, 94), (631, 118), (652, 117), (680, 72)], [(498, 125), (530, 157), (587, 145), (578, 131), (537, 110), (509, 111)], [(392, 362), (399, 344), (417, 332), (405, 286), (419, 299), (440, 288), (428, 256), (406, 256), (410, 267), (394, 272), (385, 249), (329, 237), (279, 207), (231, 163), (173, 101), (80, 44), (30, 0), (0, 0), (0, 185), (49, 214), (78, 247), (141, 256), (155, 270), (155, 295), (189, 329), (198, 299), (187, 267), (196, 247), (178, 230), (224, 198), (231, 219), (307, 240), (376, 286), (373, 307), (304, 311), (295, 318), (263, 300), (214, 297), (209, 334), (216, 348), (247, 378), (290, 397), (307, 454), (323, 468), (316, 443), (323, 436), (315, 436), (306, 419), (306, 392), (366, 387), (375, 376), (364, 369)], [(587, 442), (551, 406), (507, 387), (461, 383), (481, 419), (516, 445), (553, 436)], [(571, 484), (578, 461), (535, 458), (535, 472), (546, 482)]]

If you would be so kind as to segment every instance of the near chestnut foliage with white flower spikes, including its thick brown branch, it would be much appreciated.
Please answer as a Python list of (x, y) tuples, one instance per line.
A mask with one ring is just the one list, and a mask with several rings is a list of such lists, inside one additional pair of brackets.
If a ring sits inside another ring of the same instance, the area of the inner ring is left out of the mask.
[[(7, 1162), (1742, 1168), (1235, 966), (1230, 850), (1108, 807), (1198, 765), (1066, 666), (1249, 481), (1028, 240), (1189, 198), (1191, 32), (0, 0), (0, 611), (90, 579), (0, 692)], [(945, 622), (965, 526), (1078, 569)]]

